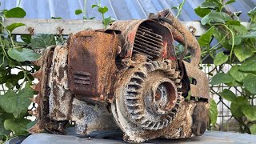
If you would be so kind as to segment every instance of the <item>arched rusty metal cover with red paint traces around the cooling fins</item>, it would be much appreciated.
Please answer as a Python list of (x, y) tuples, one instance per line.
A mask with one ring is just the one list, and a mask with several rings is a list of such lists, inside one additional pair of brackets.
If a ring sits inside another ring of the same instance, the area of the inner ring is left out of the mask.
[[(131, 57), (133, 52), (146, 53), (148, 58), (176, 58), (173, 36), (170, 30), (152, 20), (133, 20), (113, 22), (110, 29), (120, 30), (119, 35), (122, 58)], [(154, 47), (154, 48), (150, 48)]]

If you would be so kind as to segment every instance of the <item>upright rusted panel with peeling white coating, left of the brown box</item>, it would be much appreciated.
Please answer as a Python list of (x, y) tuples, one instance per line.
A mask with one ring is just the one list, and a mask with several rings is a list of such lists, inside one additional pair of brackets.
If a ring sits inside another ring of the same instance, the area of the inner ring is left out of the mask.
[(73, 92), (70, 91), (67, 78), (68, 52), (66, 46), (56, 46), (49, 70), (49, 115), (50, 118), (56, 121), (68, 120), (72, 108)]

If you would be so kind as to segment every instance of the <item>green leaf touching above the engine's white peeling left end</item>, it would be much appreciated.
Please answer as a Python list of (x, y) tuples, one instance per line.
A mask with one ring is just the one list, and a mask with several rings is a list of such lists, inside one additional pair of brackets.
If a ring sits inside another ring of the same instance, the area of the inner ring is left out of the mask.
[(54, 34), (34, 34), (31, 38), (33, 49), (45, 49), (48, 46), (55, 46)]

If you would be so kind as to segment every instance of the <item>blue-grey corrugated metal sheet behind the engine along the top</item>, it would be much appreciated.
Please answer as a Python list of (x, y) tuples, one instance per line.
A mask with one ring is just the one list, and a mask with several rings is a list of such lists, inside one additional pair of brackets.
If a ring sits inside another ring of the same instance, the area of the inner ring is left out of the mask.
[[(194, 8), (200, 5), (203, 0), (186, 0), (180, 19), (182, 21), (199, 20), (194, 14)], [(18, 5), (17, 0), (0, 0), (0, 9), (11, 9)], [(87, 0), (87, 17), (102, 19), (97, 9), (92, 9), (91, 5), (98, 0)], [(178, 6), (182, 0), (102, 0), (102, 6), (107, 6), (109, 11), (106, 16), (111, 16), (117, 20), (142, 19), (146, 18), (150, 12), (157, 12), (164, 9), (171, 9)], [(51, 18), (61, 17), (64, 19), (82, 19), (82, 14), (77, 16), (74, 10), (84, 7), (84, 0), (22, 0), (22, 8), (26, 10), (26, 18)], [(232, 5), (226, 6), (227, 10), (242, 11), (240, 20), (248, 21), (246, 13), (256, 6), (255, 0), (237, 0)], [(172, 10), (177, 14), (177, 10)]]

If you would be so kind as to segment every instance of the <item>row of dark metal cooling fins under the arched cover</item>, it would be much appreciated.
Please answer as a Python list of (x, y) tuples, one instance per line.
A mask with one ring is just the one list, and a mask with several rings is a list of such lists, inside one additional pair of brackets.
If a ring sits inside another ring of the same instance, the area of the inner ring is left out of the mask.
[(134, 41), (134, 52), (146, 54), (147, 58), (160, 58), (162, 36), (146, 26), (139, 26)]

